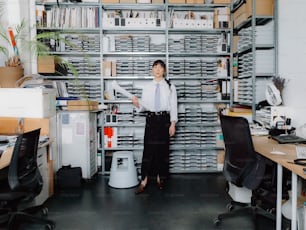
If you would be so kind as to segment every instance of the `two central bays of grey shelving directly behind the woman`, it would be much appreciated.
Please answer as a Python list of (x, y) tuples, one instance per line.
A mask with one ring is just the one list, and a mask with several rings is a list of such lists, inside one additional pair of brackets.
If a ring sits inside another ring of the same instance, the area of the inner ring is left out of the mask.
[[(122, 11), (122, 15), (131, 11), (139, 15), (148, 12), (151, 15), (158, 15), (149, 20), (153, 25), (150, 28), (138, 25), (137, 22), (131, 26), (132, 28), (120, 26), (119, 23), (114, 26), (114, 22), (108, 21), (108, 25), (113, 26), (104, 29), (102, 24), (103, 37), (113, 36), (115, 43), (112, 45), (115, 50), (109, 52), (103, 49), (103, 60), (116, 63), (116, 76), (104, 77), (104, 87), (105, 91), (109, 92), (111, 81), (116, 79), (121, 86), (141, 96), (142, 86), (152, 80), (151, 66), (154, 60), (162, 59), (166, 62), (168, 78), (177, 88), (179, 103), (177, 133), (170, 142), (171, 173), (218, 171), (217, 154), (221, 148), (217, 146), (220, 128), (216, 104), (230, 103), (230, 92), (222, 97), (218, 88), (222, 85), (222, 81), (230, 83), (231, 79), (228, 69), (222, 69), (224, 66), (230, 66), (231, 62), (229, 48), (231, 29), (215, 29), (213, 17), (217, 7), (225, 6), (229, 5), (142, 4), (140, 7), (139, 4), (102, 5), (102, 15), (114, 15), (113, 11), (116, 10)], [(183, 15), (190, 12), (194, 12), (196, 14), (194, 16), (199, 17), (199, 20), (184, 19)], [(201, 16), (209, 20), (200, 20)], [(132, 22), (125, 18), (123, 23), (129, 25)], [(142, 40), (145, 43), (141, 46), (134, 43), (139, 36), (144, 36)], [(121, 37), (125, 41), (124, 47), (118, 39)], [(225, 46), (223, 51), (222, 42)], [(140, 47), (145, 49), (141, 50), (141, 53), (138, 50)], [(112, 143), (116, 147), (104, 149), (105, 159), (108, 158), (110, 162), (113, 151), (130, 150), (136, 156), (137, 163), (141, 163), (144, 114), (136, 113), (131, 102), (122, 98), (120, 94), (111, 95), (111, 100), (105, 100), (104, 103), (116, 108), (109, 110), (109, 114), (106, 112), (108, 116), (116, 113), (115, 123), (105, 122), (106, 127), (113, 129), (113, 136), (116, 138)], [(104, 163), (107, 165), (107, 162)], [(107, 171), (106, 166), (105, 173)]]

